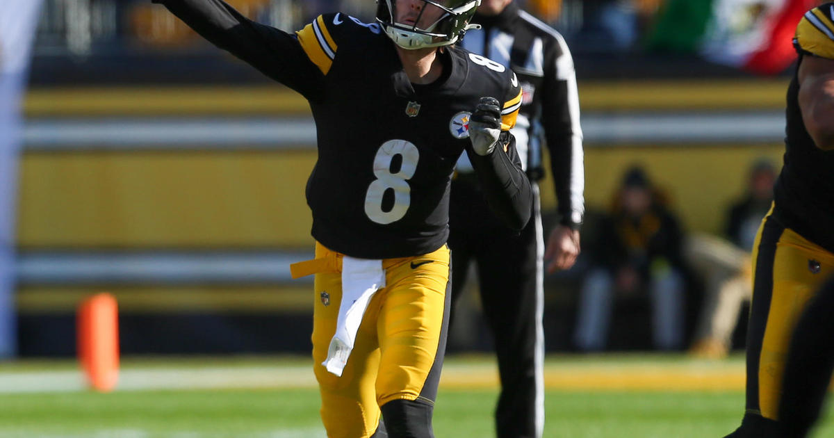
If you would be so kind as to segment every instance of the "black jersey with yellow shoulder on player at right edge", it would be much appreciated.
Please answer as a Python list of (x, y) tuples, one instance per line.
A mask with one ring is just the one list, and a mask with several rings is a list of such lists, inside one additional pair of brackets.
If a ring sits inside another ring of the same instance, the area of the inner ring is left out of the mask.
[[(807, 56), (834, 59), (834, 3), (805, 14), (796, 27), (794, 46), (799, 63)], [(774, 189), (774, 214), (788, 228), (834, 252), (834, 153), (817, 148), (808, 134), (799, 88), (795, 73), (787, 92), (786, 151)]]

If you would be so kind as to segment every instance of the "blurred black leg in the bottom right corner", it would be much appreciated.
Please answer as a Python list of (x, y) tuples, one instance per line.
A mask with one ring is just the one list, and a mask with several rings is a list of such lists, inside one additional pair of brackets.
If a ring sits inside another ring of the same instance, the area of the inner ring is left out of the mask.
[(817, 292), (791, 336), (779, 402), (781, 437), (804, 438), (820, 416), (834, 370), (834, 277)]

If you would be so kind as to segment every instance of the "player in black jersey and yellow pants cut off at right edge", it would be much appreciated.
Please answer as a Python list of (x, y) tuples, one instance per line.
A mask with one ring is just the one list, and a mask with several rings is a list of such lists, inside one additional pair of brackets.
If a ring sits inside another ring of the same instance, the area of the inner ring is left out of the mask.
[(791, 330), (834, 273), (834, 3), (805, 14), (794, 46), (799, 63), (787, 91), (785, 164), (754, 247), (746, 413), (733, 438), (779, 436)]

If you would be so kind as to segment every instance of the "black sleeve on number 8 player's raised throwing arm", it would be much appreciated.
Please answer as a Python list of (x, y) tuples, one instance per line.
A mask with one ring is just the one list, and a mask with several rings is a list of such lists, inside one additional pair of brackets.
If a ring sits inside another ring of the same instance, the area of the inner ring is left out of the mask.
[(324, 74), (316, 68), (298, 38), (255, 23), (222, 0), (152, 0), (162, 3), (210, 43), (258, 68), (309, 100), (319, 98)]

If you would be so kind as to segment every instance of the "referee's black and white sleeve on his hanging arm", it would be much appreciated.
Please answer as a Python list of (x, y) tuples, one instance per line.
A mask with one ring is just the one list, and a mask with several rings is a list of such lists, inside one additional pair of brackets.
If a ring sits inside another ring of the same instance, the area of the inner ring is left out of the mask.
[(554, 38), (546, 54), (540, 91), (541, 124), (550, 153), (560, 223), (579, 228), (585, 214), (585, 170), (579, 96), (570, 51)]

